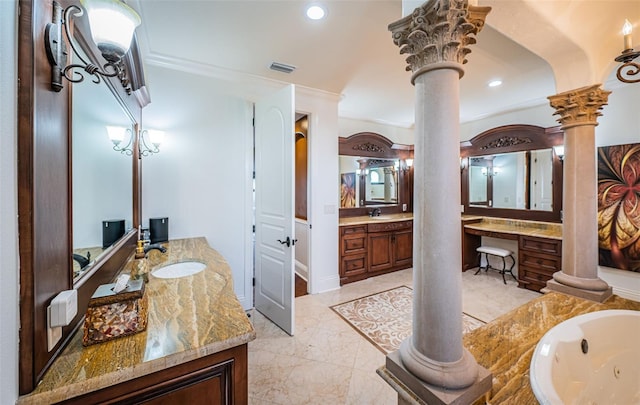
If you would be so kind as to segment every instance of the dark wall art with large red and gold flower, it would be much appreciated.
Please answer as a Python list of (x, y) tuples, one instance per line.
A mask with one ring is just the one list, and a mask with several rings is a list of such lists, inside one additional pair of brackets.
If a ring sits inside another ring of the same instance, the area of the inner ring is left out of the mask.
[(640, 144), (598, 148), (599, 264), (640, 272)]

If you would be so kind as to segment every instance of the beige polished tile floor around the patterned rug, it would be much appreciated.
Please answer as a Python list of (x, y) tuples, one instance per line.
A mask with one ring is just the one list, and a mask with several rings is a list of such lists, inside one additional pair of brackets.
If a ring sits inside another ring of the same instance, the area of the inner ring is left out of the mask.
[[(513, 279), (505, 286), (497, 272), (473, 273), (462, 273), (462, 308), (485, 322), (540, 296), (517, 288)], [(296, 298), (293, 337), (252, 311), (257, 339), (249, 343), (249, 403), (396, 404), (396, 392), (376, 374), (382, 352), (330, 306), (411, 284), (408, 269)]]

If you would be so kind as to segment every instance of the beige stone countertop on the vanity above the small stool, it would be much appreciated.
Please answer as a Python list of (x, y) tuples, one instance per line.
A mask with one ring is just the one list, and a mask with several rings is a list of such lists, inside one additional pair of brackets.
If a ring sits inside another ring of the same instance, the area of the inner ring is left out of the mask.
[(465, 224), (464, 227), (466, 229), (475, 229), (478, 231), (510, 233), (562, 240), (562, 224), (559, 223), (491, 217), (467, 217), (463, 218), (463, 223), (465, 221), (476, 219), (481, 219), (481, 221)]

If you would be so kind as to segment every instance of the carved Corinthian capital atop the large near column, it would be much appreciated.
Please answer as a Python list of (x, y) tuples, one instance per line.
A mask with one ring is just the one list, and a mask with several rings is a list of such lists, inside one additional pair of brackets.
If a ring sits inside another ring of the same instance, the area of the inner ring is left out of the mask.
[(476, 43), (491, 7), (470, 6), (468, 0), (428, 0), (408, 15), (389, 25), (400, 53), (408, 53), (406, 70), (411, 82), (424, 72), (450, 68), (464, 74), (462, 64)]

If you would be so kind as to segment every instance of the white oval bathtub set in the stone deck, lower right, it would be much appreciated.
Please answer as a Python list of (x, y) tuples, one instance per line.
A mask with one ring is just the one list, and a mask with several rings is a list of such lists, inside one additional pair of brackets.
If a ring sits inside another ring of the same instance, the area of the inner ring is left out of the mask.
[(568, 319), (538, 342), (529, 369), (543, 404), (640, 404), (640, 311)]

